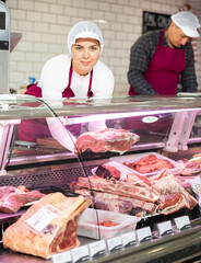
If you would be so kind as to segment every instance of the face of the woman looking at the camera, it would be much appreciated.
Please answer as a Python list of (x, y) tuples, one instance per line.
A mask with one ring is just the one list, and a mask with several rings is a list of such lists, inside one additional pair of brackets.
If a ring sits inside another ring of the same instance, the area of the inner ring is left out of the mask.
[(78, 38), (71, 47), (73, 70), (87, 75), (96, 65), (100, 53), (99, 42), (92, 38)]

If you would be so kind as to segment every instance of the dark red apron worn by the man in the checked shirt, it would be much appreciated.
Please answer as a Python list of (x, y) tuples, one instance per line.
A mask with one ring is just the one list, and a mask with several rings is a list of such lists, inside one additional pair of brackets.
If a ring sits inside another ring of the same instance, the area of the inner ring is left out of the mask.
[[(176, 95), (180, 72), (186, 67), (186, 57), (184, 50), (163, 46), (164, 32), (161, 33), (159, 43), (147, 65), (144, 78), (158, 94)], [(129, 95), (138, 95), (132, 87)]]

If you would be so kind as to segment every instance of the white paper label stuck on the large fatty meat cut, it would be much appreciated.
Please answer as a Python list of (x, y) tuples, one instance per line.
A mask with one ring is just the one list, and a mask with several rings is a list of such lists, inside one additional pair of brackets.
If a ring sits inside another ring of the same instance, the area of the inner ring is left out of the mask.
[(26, 220), (31, 227), (36, 229), (37, 231), (43, 231), (50, 221), (57, 217), (57, 214), (47, 209), (46, 207), (42, 207), (39, 210), (36, 211), (32, 217)]

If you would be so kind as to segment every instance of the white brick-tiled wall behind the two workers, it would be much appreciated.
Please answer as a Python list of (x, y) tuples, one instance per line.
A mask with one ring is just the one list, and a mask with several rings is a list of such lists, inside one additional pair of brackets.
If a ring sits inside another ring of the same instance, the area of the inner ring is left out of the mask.
[[(105, 47), (100, 60), (110, 67), (115, 75), (115, 95), (126, 95), (129, 87), (127, 71), (130, 47), (142, 33), (142, 12), (145, 10), (170, 14), (185, 2), (184, 0), (7, 0), (11, 12), (11, 31), (23, 34), (21, 42), (11, 54), (10, 87), (19, 91), (20, 87), (28, 84), (28, 77), (38, 80), (47, 59), (68, 52), (67, 35), (70, 27), (78, 21), (91, 20), (103, 31)], [(192, 8), (197, 10), (198, 7), (192, 4)], [(199, 50), (196, 67), (201, 88)]]

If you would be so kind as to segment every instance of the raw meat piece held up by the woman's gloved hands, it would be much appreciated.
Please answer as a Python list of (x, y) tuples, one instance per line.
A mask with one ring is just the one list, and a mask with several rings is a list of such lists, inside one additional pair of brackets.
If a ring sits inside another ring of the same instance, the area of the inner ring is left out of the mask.
[(90, 149), (93, 152), (114, 151), (123, 153), (139, 139), (140, 137), (137, 134), (126, 129), (106, 128), (100, 132), (87, 132), (76, 139), (75, 152), (81, 153)]

